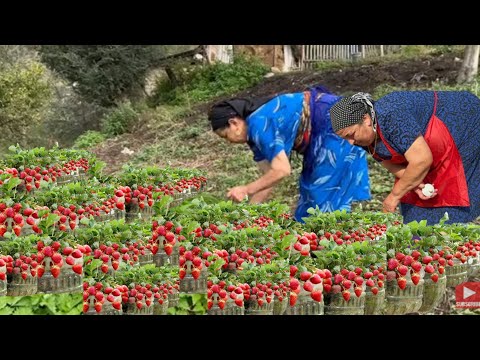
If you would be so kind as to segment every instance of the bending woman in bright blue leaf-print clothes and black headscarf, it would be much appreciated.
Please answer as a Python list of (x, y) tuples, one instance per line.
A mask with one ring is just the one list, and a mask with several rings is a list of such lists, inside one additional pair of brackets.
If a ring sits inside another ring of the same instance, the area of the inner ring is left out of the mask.
[(303, 154), (300, 199), (295, 218), (307, 209), (322, 212), (346, 209), (353, 201), (369, 200), (365, 151), (337, 136), (329, 110), (341, 97), (318, 86), (304, 92), (269, 98), (235, 98), (215, 104), (209, 112), (212, 130), (231, 143), (247, 143), (263, 175), (236, 186), (227, 196), (263, 202), (273, 186), (290, 175), (292, 150)]

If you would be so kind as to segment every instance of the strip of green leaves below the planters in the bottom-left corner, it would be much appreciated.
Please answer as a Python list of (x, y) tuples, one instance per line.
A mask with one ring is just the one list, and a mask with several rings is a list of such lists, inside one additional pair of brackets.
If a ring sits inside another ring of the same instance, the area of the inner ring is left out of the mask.
[(0, 297), (0, 315), (80, 315), (82, 293)]

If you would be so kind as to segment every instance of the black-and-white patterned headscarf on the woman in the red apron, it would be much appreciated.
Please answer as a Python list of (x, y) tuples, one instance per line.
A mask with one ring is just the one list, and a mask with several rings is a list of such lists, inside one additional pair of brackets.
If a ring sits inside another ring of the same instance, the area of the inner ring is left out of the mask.
[(372, 96), (367, 93), (356, 93), (351, 97), (344, 97), (330, 109), (333, 131), (337, 132), (360, 123), (365, 114), (372, 118), (373, 130), (376, 131), (377, 115), (373, 108)]

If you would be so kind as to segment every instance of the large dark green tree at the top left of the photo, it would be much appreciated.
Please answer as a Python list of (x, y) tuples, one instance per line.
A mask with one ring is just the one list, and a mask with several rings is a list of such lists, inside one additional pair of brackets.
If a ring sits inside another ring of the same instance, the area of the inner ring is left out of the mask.
[(155, 45), (42, 45), (39, 51), (77, 93), (106, 107), (143, 95), (146, 73), (163, 52)]

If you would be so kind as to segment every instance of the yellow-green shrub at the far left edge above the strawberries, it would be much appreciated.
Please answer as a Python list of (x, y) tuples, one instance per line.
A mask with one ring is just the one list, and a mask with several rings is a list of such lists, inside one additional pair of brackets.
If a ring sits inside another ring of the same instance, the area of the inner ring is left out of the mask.
[(26, 143), (29, 130), (42, 120), (52, 90), (45, 67), (13, 65), (0, 71), (0, 138)]

